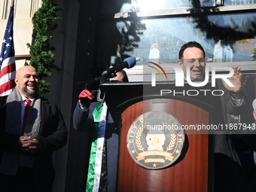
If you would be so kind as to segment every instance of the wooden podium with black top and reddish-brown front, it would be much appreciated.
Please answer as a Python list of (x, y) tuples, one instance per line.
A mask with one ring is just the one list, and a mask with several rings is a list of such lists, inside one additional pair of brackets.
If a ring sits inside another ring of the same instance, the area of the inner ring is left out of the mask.
[[(177, 94), (161, 95), (160, 90), (166, 90), (166, 87), (176, 90)], [(196, 87), (185, 84), (178, 88), (173, 82), (157, 84), (156, 87), (151, 87), (150, 83), (106, 83), (100, 88), (105, 92), (105, 101), (114, 122), (120, 127), (117, 191), (213, 191), (214, 139), (207, 130), (184, 130), (180, 156), (163, 169), (147, 169), (133, 160), (132, 152), (127, 149), (127, 134), (135, 120), (150, 111), (170, 114), (183, 126), (209, 125), (220, 113), (216, 108), (218, 97), (204, 96), (203, 93), (187, 96), (183, 93), (187, 90), (197, 93)], [(207, 84), (203, 89), (211, 90), (212, 87)], [(175, 154), (175, 151), (171, 153)]]

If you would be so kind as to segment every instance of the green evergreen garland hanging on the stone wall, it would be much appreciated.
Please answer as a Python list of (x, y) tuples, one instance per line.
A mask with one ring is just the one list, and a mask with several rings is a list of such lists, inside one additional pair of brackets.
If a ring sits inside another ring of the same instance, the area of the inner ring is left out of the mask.
[(54, 5), (51, 0), (42, 0), (41, 8), (35, 12), (32, 18), (33, 32), (32, 38), (33, 44), (27, 44), (32, 55), (30, 66), (35, 67), (39, 76), (39, 92), (49, 92), (49, 87), (52, 86), (50, 82), (42, 80), (42, 78), (50, 77), (50, 66), (53, 63), (53, 50), (54, 47), (50, 47), (49, 40), (53, 37), (47, 35), (48, 31), (56, 29), (58, 26), (56, 22), (61, 20), (60, 17), (56, 17), (56, 11), (62, 11), (62, 7)]

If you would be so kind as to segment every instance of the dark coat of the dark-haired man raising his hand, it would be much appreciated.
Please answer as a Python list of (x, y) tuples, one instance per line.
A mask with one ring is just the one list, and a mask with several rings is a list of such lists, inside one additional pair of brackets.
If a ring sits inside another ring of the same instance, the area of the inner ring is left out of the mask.
[[(220, 114), (224, 118), (223, 123), (230, 123), (229, 114), (242, 114), (248, 111), (250, 102), (245, 93), (243, 93), (243, 105), (236, 107), (233, 105), (230, 92), (224, 87), (221, 80), (218, 80), (218, 88), (224, 90), (224, 96), (221, 96), (221, 105), (218, 105), (222, 110)], [(215, 135), (215, 192), (248, 191), (245, 174), (234, 148), (231, 134), (230, 131), (226, 131), (224, 134)]]

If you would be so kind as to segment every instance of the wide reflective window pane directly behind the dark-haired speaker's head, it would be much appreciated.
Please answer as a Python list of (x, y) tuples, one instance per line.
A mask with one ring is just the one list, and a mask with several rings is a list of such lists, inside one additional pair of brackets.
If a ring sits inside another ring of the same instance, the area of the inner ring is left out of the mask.
[[(209, 17), (177, 17), (103, 23), (99, 40), (100, 62), (127, 56), (143, 59), (175, 59), (187, 41), (198, 41), (212, 62), (251, 61), (256, 14), (225, 14)], [(121, 60), (119, 59), (119, 61)]]

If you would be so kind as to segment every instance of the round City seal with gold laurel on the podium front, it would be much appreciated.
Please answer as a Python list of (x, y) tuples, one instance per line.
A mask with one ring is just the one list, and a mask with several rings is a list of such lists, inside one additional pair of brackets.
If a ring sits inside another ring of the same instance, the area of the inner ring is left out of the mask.
[(163, 169), (181, 155), (184, 138), (184, 130), (175, 117), (163, 111), (150, 111), (133, 122), (126, 143), (137, 164), (145, 169)]

